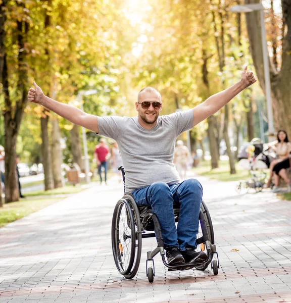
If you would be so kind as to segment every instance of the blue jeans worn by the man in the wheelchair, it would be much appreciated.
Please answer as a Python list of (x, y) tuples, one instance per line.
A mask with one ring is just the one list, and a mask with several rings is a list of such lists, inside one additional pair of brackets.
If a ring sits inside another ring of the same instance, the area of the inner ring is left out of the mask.
[[(151, 206), (160, 221), (165, 246), (196, 248), (203, 188), (196, 179), (170, 184), (155, 182), (132, 192), (137, 205)], [(176, 228), (173, 203), (180, 204)]]

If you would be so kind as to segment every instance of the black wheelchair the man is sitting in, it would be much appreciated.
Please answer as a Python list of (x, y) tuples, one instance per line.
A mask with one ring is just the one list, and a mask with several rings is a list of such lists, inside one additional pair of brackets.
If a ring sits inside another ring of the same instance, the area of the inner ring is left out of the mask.
[[(123, 182), (125, 181), (124, 168), (120, 167)], [(175, 222), (179, 220), (179, 205), (174, 205)], [(199, 233), (197, 235), (197, 251), (204, 251), (207, 260), (204, 262), (182, 263), (169, 265), (165, 259), (164, 241), (161, 227), (156, 214), (148, 206), (137, 206), (131, 193), (125, 192), (117, 202), (112, 218), (111, 241), (113, 258), (117, 270), (127, 279), (136, 275), (141, 257), (142, 238), (156, 237), (157, 247), (147, 252), (146, 272), (149, 282), (154, 281), (154, 257), (160, 253), (168, 271), (188, 270), (196, 268), (206, 270), (209, 264), (214, 275), (218, 274), (219, 259), (214, 242), (213, 225), (210, 213), (202, 201), (199, 215)], [(216, 255), (216, 260), (214, 257)]]

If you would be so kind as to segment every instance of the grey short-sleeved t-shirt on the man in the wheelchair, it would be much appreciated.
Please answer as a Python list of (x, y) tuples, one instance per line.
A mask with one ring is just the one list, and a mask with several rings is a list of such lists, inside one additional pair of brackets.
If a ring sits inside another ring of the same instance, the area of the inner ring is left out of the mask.
[(125, 190), (146, 187), (154, 182), (179, 182), (173, 164), (178, 135), (193, 127), (193, 110), (159, 116), (150, 130), (138, 117), (98, 117), (99, 134), (113, 138), (119, 147), (125, 171)]

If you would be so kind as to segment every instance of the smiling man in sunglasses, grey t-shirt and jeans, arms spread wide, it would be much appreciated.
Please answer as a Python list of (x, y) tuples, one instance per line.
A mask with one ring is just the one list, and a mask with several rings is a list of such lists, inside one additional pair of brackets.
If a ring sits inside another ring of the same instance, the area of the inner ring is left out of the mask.
[[(153, 87), (142, 89), (135, 103), (137, 117), (96, 117), (45, 96), (39, 86), (30, 88), (28, 100), (98, 134), (113, 138), (119, 146), (125, 178), (125, 191), (137, 205), (151, 206), (160, 221), (168, 264), (204, 261), (197, 252), (196, 236), (203, 189), (196, 179), (179, 183), (173, 165), (176, 138), (184, 131), (216, 113), (235, 95), (256, 82), (247, 67), (241, 80), (210, 96), (199, 106), (160, 116), (161, 95)], [(177, 228), (173, 203), (180, 204)]]

